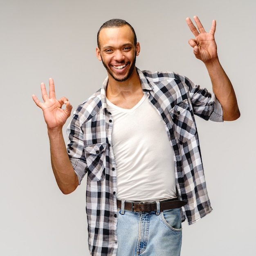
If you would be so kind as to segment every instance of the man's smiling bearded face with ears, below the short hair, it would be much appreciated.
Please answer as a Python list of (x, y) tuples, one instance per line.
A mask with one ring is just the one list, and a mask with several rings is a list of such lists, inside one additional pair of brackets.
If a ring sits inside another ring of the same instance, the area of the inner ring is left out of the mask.
[(104, 28), (99, 33), (96, 55), (106, 68), (109, 79), (122, 82), (135, 74), (139, 51), (139, 43), (134, 45), (134, 34), (128, 25)]

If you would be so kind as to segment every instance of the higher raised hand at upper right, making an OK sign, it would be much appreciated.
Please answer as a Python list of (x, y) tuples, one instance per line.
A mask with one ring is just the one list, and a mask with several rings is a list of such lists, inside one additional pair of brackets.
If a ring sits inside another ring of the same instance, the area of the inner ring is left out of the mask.
[(216, 29), (216, 20), (212, 21), (209, 33), (204, 30), (202, 23), (197, 16), (193, 17), (198, 29), (195, 27), (190, 18), (186, 18), (190, 30), (194, 34), (194, 39), (189, 39), (189, 45), (194, 48), (195, 57), (207, 63), (214, 58), (218, 58), (217, 45), (214, 39)]

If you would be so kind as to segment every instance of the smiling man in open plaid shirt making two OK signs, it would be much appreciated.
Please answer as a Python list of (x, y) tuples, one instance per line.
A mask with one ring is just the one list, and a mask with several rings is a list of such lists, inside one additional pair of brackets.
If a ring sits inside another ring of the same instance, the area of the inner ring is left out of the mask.
[[(64, 194), (87, 177), (87, 217), (92, 255), (180, 255), (181, 222), (193, 224), (211, 212), (194, 115), (213, 121), (240, 116), (236, 96), (222, 69), (214, 40), (194, 17), (186, 22), (195, 57), (204, 62), (213, 92), (173, 72), (140, 71), (140, 45), (124, 20), (109, 20), (98, 32), (97, 58), (108, 77), (81, 104), (68, 127), (72, 106), (49, 97), (41, 84), (52, 168)], [(61, 107), (66, 105), (65, 110)], [(143, 254), (142, 254), (143, 253)]]

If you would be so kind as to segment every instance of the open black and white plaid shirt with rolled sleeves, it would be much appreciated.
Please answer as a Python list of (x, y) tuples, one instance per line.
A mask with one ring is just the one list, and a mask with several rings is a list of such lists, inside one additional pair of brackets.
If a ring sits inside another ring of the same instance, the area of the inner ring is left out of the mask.
[[(212, 211), (204, 180), (194, 115), (222, 121), (222, 108), (213, 93), (173, 72), (137, 69), (141, 87), (164, 120), (175, 153), (177, 193), (187, 201), (182, 221), (189, 225)], [(117, 252), (117, 173), (111, 147), (112, 116), (106, 104), (106, 85), (81, 104), (67, 128), (67, 151), (79, 184), (87, 176), (86, 213), (92, 255)], [(159, 170), (161, 171), (161, 170)]]

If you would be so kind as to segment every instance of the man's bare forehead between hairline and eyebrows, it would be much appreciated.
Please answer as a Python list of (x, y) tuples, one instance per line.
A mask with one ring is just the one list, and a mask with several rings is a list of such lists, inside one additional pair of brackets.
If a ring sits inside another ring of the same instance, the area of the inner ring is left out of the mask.
[(99, 43), (101, 47), (116, 46), (124, 43), (134, 44), (134, 35), (128, 25), (122, 27), (107, 27), (99, 32)]

